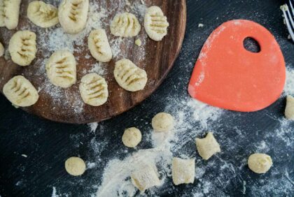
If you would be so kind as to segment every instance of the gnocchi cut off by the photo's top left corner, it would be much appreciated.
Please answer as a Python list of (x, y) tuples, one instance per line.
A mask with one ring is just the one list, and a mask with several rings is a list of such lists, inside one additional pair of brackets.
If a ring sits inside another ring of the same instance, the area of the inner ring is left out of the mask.
[(0, 0), (0, 27), (18, 27), (21, 0)]

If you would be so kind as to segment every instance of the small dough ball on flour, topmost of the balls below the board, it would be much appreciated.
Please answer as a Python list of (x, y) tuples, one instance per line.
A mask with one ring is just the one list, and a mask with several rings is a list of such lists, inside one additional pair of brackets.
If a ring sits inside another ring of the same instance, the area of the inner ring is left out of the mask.
[(152, 119), (152, 127), (155, 131), (171, 131), (174, 129), (174, 117), (166, 112), (160, 112)]

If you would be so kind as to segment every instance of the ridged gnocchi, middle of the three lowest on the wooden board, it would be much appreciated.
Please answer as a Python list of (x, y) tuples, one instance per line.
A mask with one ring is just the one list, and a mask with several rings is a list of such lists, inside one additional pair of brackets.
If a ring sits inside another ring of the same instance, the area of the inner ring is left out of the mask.
[(109, 97), (106, 80), (96, 73), (83, 76), (80, 80), (80, 96), (88, 105), (103, 105)]

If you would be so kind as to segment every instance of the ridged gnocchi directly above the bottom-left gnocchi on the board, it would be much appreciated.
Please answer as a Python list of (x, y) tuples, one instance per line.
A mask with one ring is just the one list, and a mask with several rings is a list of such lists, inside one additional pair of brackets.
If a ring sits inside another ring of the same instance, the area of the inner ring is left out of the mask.
[(11, 37), (9, 48), (15, 64), (28, 66), (36, 57), (36, 34), (31, 31), (18, 31)]

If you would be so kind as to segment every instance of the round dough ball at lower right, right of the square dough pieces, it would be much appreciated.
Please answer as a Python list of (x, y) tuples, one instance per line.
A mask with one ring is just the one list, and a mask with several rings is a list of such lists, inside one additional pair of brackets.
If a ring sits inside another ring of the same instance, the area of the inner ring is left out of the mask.
[(272, 167), (272, 158), (263, 153), (251, 154), (248, 158), (248, 167), (254, 173), (264, 174)]

